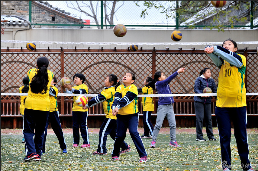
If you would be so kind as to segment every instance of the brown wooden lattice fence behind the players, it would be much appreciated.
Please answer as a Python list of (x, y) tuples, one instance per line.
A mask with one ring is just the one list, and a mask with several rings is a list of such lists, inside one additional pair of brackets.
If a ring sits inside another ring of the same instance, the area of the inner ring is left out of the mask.
[[(247, 92), (258, 92), (258, 55), (256, 49), (239, 49), (240, 54), (247, 58), (245, 86)], [(60, 80), (63, 76), (73, 78), (75, 73), (85, 75), (85, 84), (90, 94), (98, 94), (104, 88), (103, 82), (108, 74), (115, 74), (120, 79), (125, 72), (135, 73), (135, 85), (143, 87), (143, 80), (147, 76), (154, 76), (162, 71), (166, 76), (174, 73), (178, 68), (185, 67), (186, 72), (180, 74), (170, 83), (174, 94), (194, 93), (194, 82), (200, 70), (211, 68), (212, 78), (218, 84), (219, 69), (213, 64), (203, 50), (153, 49), (131, 52), (126, 49), (38, 49), (33, 53), (24, 49), (1, 49), (1, 92), (17, 93), (22, 86), (22, 79), (27, 71), (36, 67), (35, 59), (46, 56), (49, 61), (48, 69)], [(56, 87), (63, 93), (59, 82)], [(154, 92), (156, 93), (156, 92)], [(71, 127), (72, 96), (58, 96), (58, 109), (63, 127)], [(158, 98), (155, 101), (152, 123), (155, 124), (155, 113)], [(193, 96), (174, 97), (174, 112), (177, 126), (194, 127), (195, 110)], [(138, 98), (138, 107), (142, 113), (141, 98)], [(215, 98), (212, 99), (212, 113), (215, 111)], [(19, 96), (1, 96), (1, 128), (21, 128), (22, 118), (19, 113)], [(247, 96), (247, 113), (251, 117), (250, 127), (257, 127), (258, 96)], [(99, 128), (105, 118), (102, 105), (98, 104), (89, 110), (88, 125)], [(16, 118), (16, 119), (14, 119)], [(141, 119), (141, 115), (140, 115)], [(215, 117), (212, 117), (216, 126)], [(15, 121), (16, 120), (16, 121)], [(15, 123), (16, 122), (16, 123)], [(142, 123), (139, 122), (139, 126)], [(164, 122), (163, 126), (168, 126)]]

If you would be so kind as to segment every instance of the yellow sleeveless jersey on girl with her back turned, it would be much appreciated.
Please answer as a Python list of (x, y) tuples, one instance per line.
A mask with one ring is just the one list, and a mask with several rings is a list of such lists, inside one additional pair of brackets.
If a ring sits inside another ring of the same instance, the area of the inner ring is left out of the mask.
[[(27, 73), (29, 77), (29, 83), (31, 83), (32, 78), (37, 74), (38, 69), (30, 69)], [(49, 111), (50, 110), (50, 99), (49, 99), (49, 88), (51, 81), (53, 79), (53, 73), (50, 70), (47, 70), (48, 73), (48, 84), (45, 90), (40, 93), (32, 93), (30, 86), (28, 91), (28, 96), (25, 101), (24, 108), (25, 109), (33, 109), (33, 110), (43, 110)]]

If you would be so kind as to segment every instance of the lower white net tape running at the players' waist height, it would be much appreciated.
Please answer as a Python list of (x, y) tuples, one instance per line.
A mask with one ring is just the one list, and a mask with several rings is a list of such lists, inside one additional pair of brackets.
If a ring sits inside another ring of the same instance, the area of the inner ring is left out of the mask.
[[(1, 96), (9, 96), (9, 95), (18, 95), (18, 96), (25, 96), (28, 95), (28, 93), (1, 93)], [(57, 96), (79, 96), (82, 94), (66, 94), (66, 93), (58, 93)], [(95, 97), (97, 94), (83, 94), (86, 97)], [(158, 95), (158, 94), (153, 94), (153, 95), (138, 95), (137, 97), (181, 97), (181, 96), (216, 96), (216, 93), (200, 93), (200, 94), (195, 94), (195, 93), (189, 93), (189, 94), (162, 94), (162, 95)], [(246, 95), (258, 95), (258, 93), (246, 93)]]

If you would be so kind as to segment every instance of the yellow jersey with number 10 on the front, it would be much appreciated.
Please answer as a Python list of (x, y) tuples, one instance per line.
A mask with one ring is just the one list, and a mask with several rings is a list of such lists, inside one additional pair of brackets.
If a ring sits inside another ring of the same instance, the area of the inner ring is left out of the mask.
[[(246, 58), (238, 54), (243, 65), (235, 67), (224, 60), (218, 77), (216, 106), (243, 107), (246, 106), (246, 88), (244, 85)], [(234, 86), (232, 86), (234, 85)]]

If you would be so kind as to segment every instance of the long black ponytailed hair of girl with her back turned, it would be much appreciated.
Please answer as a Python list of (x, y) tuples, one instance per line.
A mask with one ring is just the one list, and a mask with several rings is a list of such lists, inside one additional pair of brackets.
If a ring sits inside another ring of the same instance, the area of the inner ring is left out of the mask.
[(32, 78), (30, 83), (30, 89), (33, 93), (42, 93), (47, 92), (48, 84), (48, 67), (49, 61), (46, 57), (40, 57), (37, 60), (37, 74)]

